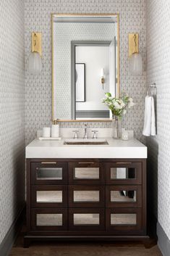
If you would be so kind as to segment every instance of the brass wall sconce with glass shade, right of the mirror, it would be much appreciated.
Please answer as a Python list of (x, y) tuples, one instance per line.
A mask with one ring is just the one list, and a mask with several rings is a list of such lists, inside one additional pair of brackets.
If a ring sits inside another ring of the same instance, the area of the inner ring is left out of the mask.
[(129, 34), (129, 72), (132, 75), (141, 75), (143, 72), (143, 59), (139, 53), (139, 34)]

